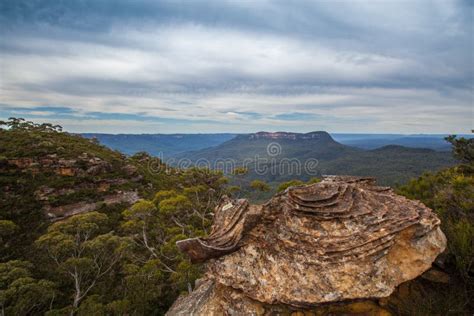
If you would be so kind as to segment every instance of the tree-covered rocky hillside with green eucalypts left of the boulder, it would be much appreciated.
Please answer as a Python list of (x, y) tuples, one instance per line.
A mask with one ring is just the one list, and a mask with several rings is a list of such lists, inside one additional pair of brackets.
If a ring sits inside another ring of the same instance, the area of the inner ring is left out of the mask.
[(1, 124), (1, 315), (161, 314), (192, 287), (175, 242), (208, 233), (222, 174)]

